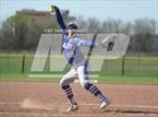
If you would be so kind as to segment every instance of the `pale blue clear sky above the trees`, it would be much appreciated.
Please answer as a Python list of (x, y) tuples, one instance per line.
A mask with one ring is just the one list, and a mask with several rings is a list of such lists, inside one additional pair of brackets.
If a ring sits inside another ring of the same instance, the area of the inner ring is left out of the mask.
[(0, 22), (16, 10), (48, 11), (50, 4), (69, 9), (72, 15), (85, 19), (96, 16), (101, 21), (109, 17), (134, 21), (150, 17), (158, 21), (158, 0), (0, 0)]

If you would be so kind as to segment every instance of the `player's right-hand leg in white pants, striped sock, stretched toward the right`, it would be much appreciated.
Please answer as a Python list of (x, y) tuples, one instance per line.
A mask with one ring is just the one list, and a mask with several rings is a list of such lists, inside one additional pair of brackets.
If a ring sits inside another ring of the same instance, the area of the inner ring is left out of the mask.
[(104, 108), (110, 104), (109, 100), (101, 93), (101, 91), (93, 83), (89, 83), (89, 78), (87, 74), (86, 67), (84, 67), (84, 66), (78, 67), (77, 73), (78, 73), (78, 79), (80, 79), (82, 86), (99, 100), (100, 108)]

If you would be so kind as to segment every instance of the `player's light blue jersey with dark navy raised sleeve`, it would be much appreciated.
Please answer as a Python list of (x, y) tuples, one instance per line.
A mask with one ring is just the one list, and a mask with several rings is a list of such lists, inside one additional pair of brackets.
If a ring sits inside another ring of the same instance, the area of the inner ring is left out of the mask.
[(60, 10), (57, 10), (56, 16), (57, 16), (57, 21), (58, 21), (60, 27), (63, 31), (63, 33), (62, 33), (62, 51), (63, 51), (66, 60), (72, 66), (84, 65), (86, 60), (84, 58), (84, 55), (81, 51), (81, 46), (94, 47), (96, 44), (92, 44), (90, 40), (83, 39), (77, 35), (73, 36), (72, 38), (69, 38), (68, 32), (65, 32), (65, 30), (68, 27), (64, 24)]

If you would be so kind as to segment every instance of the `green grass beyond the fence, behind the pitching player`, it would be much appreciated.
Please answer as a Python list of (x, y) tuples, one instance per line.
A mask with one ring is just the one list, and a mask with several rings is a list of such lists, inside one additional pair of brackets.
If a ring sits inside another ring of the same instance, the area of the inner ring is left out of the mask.
[[(53, 68), (60, 67), (62, 57), (56, 56)], [(25, 73), (28, 73), (34, 59), (34, 55), (25, 55)], [(0, 54), (0, 73), (21, 73), (23, 55), (21, 54)], [(102, 57), (92, 57), (92, 67), (97, 66)], [(49, 59), (48, 59), (49, 61)], [(69, 69), (64, 69), (65, 73)], [(46, 63), (45, 71), (49, 72), (49, 62)], [(105, 59), (99, 71), (101, 75), (121, 75), (122, 58), (116, 60)], [(127, 75), (148, 75), (158, 77), (158, 57), (125, 57), (124, 74)]]

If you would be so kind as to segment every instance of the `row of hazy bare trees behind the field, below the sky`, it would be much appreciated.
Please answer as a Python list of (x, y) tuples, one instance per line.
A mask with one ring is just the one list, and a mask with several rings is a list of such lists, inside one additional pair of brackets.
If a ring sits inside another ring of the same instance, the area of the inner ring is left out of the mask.
[[(65, 22), (75, 21), (80, 28), (87, 28), (88, 32), (123, 33), (131, 37), (130, 52), (158, 52), (157, 22), (153, 19), (137, 19), (133, 22), (123, 22), (116, 19), (106, 19), (100, 22), (96, 17), (83, 19), (83, 16), (71, 16), (64, 11)], [(37, 17), (38, 19), (38, 17)], [(39, 25), (35, 19), (26, 21), (22, 14), (14, 14), (8, 17), (0, 27), (0, 50), (1, 51), (34, 51), (36, 50), (39, 37), (44, 28), (59, 28), (56, 19), (49, 25)], [(47, 21), (45, 21), (47, 22)]]

